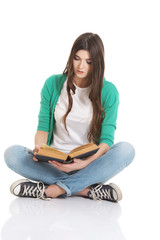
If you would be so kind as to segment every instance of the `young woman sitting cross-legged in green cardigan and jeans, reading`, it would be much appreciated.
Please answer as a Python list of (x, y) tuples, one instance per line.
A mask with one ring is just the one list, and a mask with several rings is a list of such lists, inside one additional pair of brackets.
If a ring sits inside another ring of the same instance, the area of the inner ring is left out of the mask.
[[(5, 151), (8, 167), (27, 178), (14, 182), (11, 193), (40, 199), (71, 195), (122, 199), (117, 185), (104, 183), (132, 162), (135, 151), (127, 142), (114, 144), (119, 95), (104, 78), (104, 69), (101, 38), (93, 33), (80, 35), (63, 74), (49, 77), (42, 88), (33, 153), (17, 145)], [(83, 160), (64, 164), (36, 159), (42, 143), (69, 153), (89, 142), (99, 150)]]

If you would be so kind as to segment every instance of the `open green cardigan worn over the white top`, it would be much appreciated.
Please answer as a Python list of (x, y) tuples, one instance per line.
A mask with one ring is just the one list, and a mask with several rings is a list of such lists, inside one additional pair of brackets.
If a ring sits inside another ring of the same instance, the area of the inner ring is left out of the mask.
[[(54, 110), (61, 93), (66, 75), (57, 74), (49, 77), (41, 90), (41, 106), (38, 115), (37, 130), (48, 132), (47, 144), (53, 140), (53, 129), (55, 127)], [(116, 130), (117, 111), (119, 105), (119, 94), (116, 87), (103, 80), (101, 104), (105, 111), (105, 118), (102, 122), (100, 143), (107, 143), (111, 146), (114, 143), (114, 132)]]

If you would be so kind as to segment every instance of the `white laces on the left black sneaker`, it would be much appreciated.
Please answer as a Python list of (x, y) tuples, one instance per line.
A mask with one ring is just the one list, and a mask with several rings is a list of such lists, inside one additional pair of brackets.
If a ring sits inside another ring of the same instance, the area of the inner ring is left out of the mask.
[(48, 198), (44, 197), (44, 190), (45, 190), (45, 186), (42, 182), (38, 182), (37, 186), (30, 186), (30, 185), (25, 185), (24, 184), (24, 190), (22, 193), (22, 196), (30, 196), (30, 197), (34, 197), (37, 199), (43, 199), (43, 200), (47, 200)]

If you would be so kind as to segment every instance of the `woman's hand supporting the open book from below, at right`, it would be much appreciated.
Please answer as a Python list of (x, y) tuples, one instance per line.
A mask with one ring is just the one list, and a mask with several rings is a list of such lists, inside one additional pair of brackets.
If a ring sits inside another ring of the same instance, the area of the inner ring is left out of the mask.
[(73, 163), (60, 163), (57, 161), (48, 161), (48, 162), (63, 172), (71, 172), (74, 170), (79, 170), (79, 169), (85, 168), (88, 165), (87, 161), (81, 160), (79, 158), (74, 158)]

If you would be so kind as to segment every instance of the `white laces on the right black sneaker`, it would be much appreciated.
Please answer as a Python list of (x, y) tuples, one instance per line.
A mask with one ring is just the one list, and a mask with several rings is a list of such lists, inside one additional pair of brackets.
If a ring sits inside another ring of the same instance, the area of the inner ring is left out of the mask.
[(102, 189), (102, 184), (97, 185), (95, 188), (90, 190), (91, 197), (94, 200), (101, 201), (103, 198), (107, 200), (113, 200), (111, 196), (111, 190), (110, 189)]

